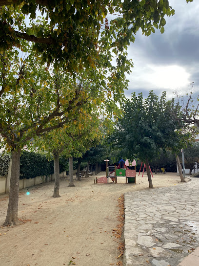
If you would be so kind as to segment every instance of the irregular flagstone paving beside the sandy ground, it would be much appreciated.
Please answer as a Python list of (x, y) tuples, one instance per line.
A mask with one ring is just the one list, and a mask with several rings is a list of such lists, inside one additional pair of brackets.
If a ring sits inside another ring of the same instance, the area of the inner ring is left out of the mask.
[(124, 199), (124, 266), (178, 266), (199, 246), (199, 181)]

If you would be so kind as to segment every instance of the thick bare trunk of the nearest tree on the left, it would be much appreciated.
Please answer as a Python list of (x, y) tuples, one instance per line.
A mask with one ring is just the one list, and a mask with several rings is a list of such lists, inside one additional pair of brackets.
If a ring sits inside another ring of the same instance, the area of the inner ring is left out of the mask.
[(10, 178), (10, 195), (8, 201), (7, 216), (3, 225), (17, 225), (18, 220), (18, 201), (19, 201), (19, 187), (20, 187), (20, 153), (21, 149), (17, 151), (12, 150), (12, 166)]

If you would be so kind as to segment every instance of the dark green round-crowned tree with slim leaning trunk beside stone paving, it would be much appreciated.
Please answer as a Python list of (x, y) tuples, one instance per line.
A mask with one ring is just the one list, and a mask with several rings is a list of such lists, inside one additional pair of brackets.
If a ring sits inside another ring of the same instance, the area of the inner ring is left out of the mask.
[[(142, 93), (132, 93), (131, 100), (123, 105), (123, 118), (119, 118), (115, 134), (116, 144), (126, 158), (138, 156), (146, 164), (149, 187), (153, 188), (149, 161), (158, 157), (161, 149), (179, 149), (188, 137), (179, 132), (179, 123), (170, 114), (171, 102), (166, 101), (166, 92), (160, 99), (153, 92), (143, 100)], [(186, 136), (186, 137), (185, 137)]]

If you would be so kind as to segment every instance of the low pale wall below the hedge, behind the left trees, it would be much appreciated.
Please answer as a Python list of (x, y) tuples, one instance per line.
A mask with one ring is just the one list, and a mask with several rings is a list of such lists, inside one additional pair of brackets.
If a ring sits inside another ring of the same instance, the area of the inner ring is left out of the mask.
[[(73, 174), (75, 175), (77, 170), (73, 170)], [(9, 175), (9, 174), (8, 174)], [(60, 173), (60, 178), (67, 177), (66, 172)], [(0, 177), (0, 194), (9, 193), (10, 184), (8, 184), (10, 178), (9, 177)], [(35, 177), (35, 178), (23, 178), (20, 179), (20, 190), (26, 187), (32, 187), (35, 185), (39, 185), (45, 182), (55, 180), (54, 174), (49, 176)], [(7, 187), (7, 191), (6, 191)]]

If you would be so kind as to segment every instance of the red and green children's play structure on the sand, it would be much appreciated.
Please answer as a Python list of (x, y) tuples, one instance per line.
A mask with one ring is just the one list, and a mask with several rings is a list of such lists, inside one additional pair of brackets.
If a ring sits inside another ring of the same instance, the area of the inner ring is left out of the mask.
[[(104, 160), (106, 162), (106, 177), (100, 177), (96, 180), (96, 183), (108, 183), (109, 179), (117, 183), (117, 177), (125, 177), (126, 183), (135, 183), (136, 184), (136, 159), (133, 162), (129, 163), (128, 159), (124, 161), (121, 159), (118, 163), (118, 166), (108, 166), (108, 159)], [(123, 166), (123, 167), (121, 167)], [(131, 169), (131, 168), (134, 169)]]

